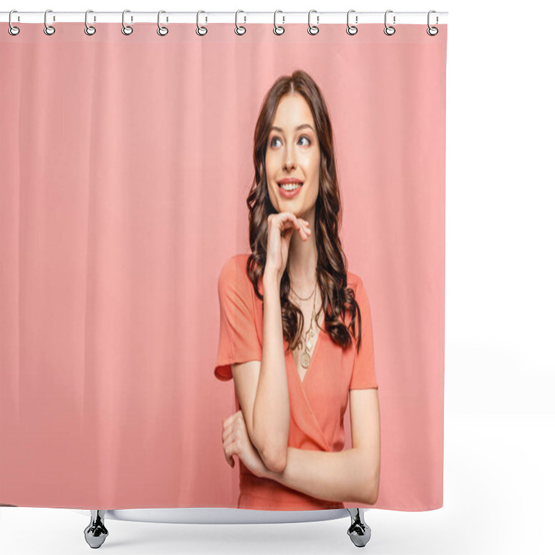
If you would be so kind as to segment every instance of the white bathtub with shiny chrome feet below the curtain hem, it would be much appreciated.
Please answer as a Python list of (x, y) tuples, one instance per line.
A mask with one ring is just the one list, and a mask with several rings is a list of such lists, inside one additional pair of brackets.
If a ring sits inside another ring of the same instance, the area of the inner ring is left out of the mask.
[(325, 511), (255, 511), (251, 509), (192, 508), (192, 509), (114, 509), (85, 511), (70, 509), (90, 516), (85, 528), (85, 540), (98, 548), (108, 537), (105, 520), (133, 522), (166, 522), (168, 524), (268, 524), (284, 522), (316, 522), (336, 520), (350, 516), (348, 535), (357, 547), (364, 547), (370, 540), (370, 527), (364, 522), (368, 509), (328, 509)]

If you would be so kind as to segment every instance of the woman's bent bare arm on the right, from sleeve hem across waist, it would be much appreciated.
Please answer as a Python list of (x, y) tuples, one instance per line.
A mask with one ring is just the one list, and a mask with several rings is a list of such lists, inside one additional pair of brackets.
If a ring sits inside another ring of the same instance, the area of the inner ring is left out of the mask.
[(283, 472), (266, 478), (316, 499), (375, 504), (379, 491), (380, 439), (377, 389), (350, 391), (352, 449), (339, 452), (288, 447)]

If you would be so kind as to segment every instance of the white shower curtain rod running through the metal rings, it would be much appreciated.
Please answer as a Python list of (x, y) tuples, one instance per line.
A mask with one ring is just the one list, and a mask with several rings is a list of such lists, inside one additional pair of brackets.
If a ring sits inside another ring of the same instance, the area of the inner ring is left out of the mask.
[[(127, 10), (126, 10), (127, 11)], [(274, 16), (278, 24), (307, 23), (309, 12), (245, 12), (238, 10), (237, 21), (244, 23), (273, 23)], [(391, 24), (425, 24), (428, 12), (395, 12), (388, 10), (387, 22)], [(431, 24), (447, 23), (448, 12), (432, 12)], [(0, 12), (0, 21), (8, 22), (10, 12)], [(14, 23), (44, 23), (45, 12), (19, 12), (12, 13), (12, 24)], [(350, 24), (384, 23), (385, 10), (383, 12), (357, 12), (350, 13)], [(161, 21), (164, 23), (196, 23), (197, 12), (162, 12)], [(393, 19), (395, 17), (395, 19)], [(126, 24), (133, 23), (156, 23), (158, 12), (126, 12)], [(234, 23), (236, 12), (202, 12), (200, 21), (202, 23)], [(121, 22), (122, 12), (94, 12), (90, 11), (87, 22), (110, 23)], [(71, 23), (85, 22), (85, 12), (56, 12), (50, 10), (47, 14), (47, 22)], [(345, 23), (347, 22), (347, 11), (345, 12), (318, 12), (314, 10), (311, 14), (311, 23)]]

